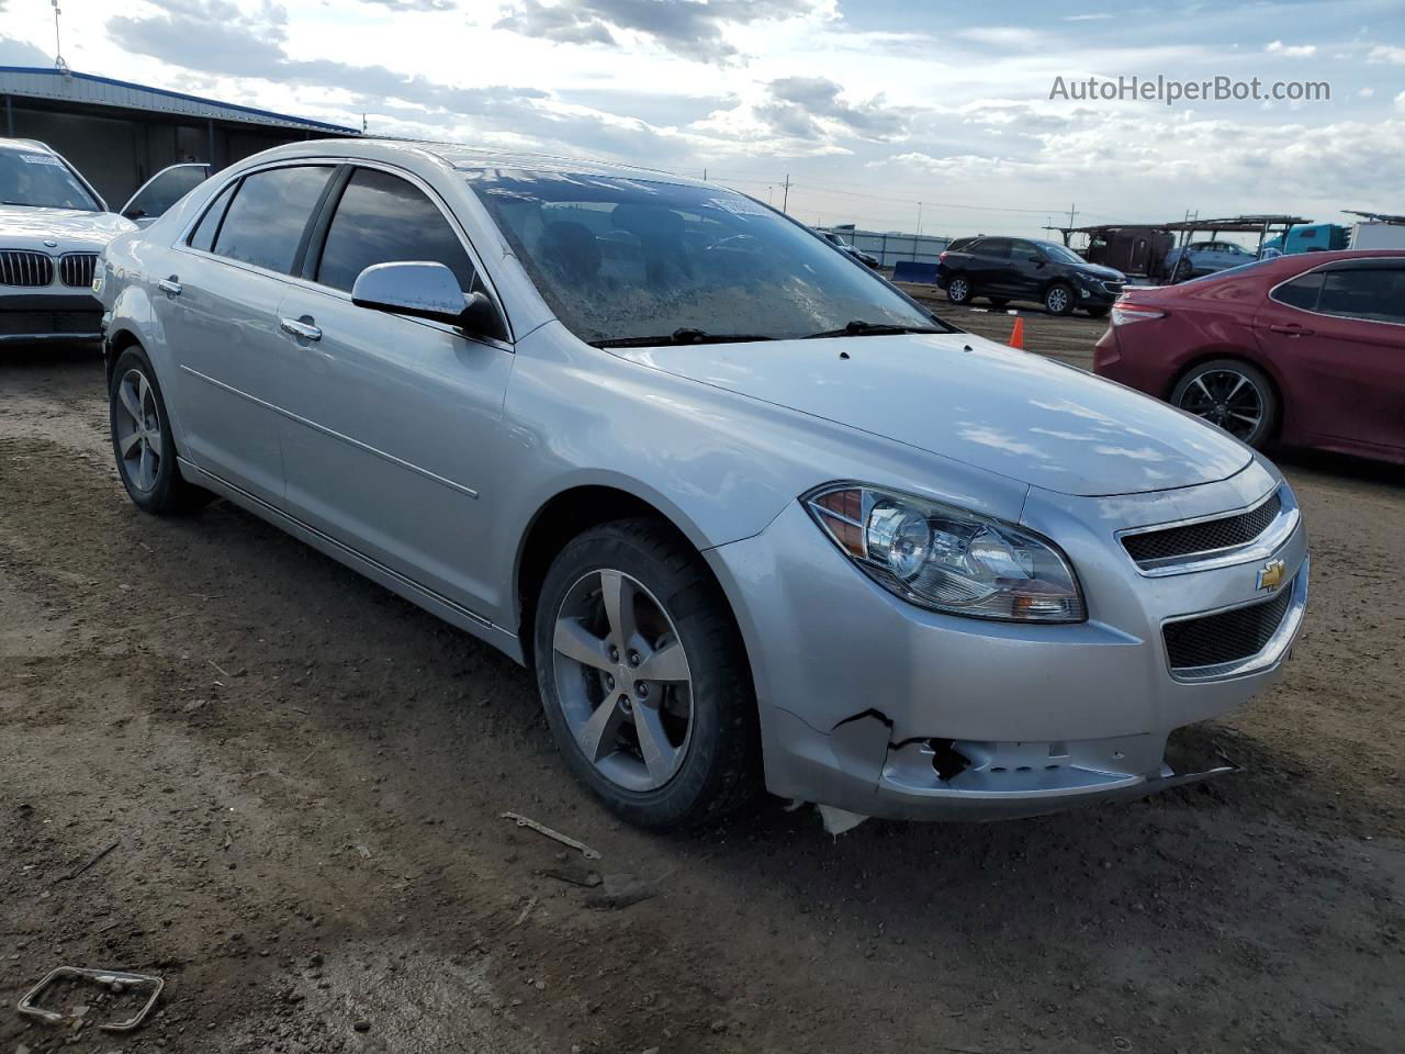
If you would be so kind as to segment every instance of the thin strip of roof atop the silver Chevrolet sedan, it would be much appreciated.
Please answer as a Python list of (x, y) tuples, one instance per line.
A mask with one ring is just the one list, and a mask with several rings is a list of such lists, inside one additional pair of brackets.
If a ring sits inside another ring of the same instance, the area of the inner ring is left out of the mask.
[(686, 187), (714, 187), (711, 183), (677, 176), (672, 171), (643, 169), (635, 164), (618, 164), (597, 157), (563, 157), (549, 153), (524, 150), (496, 150), (468, 143), (444, 143), (429, 139), (311, 139), (268, 152), (281, 157), (301, 156), (346, 156), (379, 159), (386, 162), (433, 157), (459, 171), (509, 173), (558, 173), (563, 176), (601, 176), (648, 183), (674, 183)]

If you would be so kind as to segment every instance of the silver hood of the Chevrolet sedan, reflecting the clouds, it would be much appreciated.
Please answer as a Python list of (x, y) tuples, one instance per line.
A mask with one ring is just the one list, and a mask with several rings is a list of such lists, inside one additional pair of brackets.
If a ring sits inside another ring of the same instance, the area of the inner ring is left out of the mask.
[(1208, 483), (1252, 460), (1156, 399), (969, 333), (613, 354), (1069, 495)]

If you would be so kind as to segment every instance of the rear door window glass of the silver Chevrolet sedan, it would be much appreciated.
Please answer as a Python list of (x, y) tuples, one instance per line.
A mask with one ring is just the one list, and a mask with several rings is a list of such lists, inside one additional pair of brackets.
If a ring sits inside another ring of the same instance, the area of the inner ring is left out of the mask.
[(327, 166), (298, 166), (246, 176), (229, 202), (214, 252), (291, 274), (302, 232), (330, 174)]

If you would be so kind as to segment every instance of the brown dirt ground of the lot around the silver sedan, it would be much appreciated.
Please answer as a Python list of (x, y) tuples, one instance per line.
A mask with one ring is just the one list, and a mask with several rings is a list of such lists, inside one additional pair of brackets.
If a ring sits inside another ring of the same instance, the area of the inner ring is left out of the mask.
[[(1103, 326), (1026, 318), (1083, 365)], [(0, 1054), (1402, 1048), (1397, 471), (1283, 458), (1315, 592), (1286, 680), (1208, 729), (1243, 773), (669, 838), (572, 784), (486, 645), (226, 503), (139, 514), (101, 389), (90, 354), (0, 353)], [(653, 895), (599, 906), (509, 809)], [(100, 1003), (30, 1023), (59, 964), (166, 989), (125, 1037)]]

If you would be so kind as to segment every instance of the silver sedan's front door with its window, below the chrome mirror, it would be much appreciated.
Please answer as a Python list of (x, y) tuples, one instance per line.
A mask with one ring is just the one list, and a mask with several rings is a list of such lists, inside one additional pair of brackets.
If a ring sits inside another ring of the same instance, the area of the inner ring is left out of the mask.
[[(318, 245), (320, 243), (320, 252)], [(503, 340), (351, 304), (372, 264), (429, 260), (485, 289), (458, 223), (402, 171), (357, 167), (329, 198), (280, 316), (288, 507), (371, 559), (466, 606), (486, 582), (493, 443), (511, 371)], [(485, 289), (486, 291), (486, 289)]]

